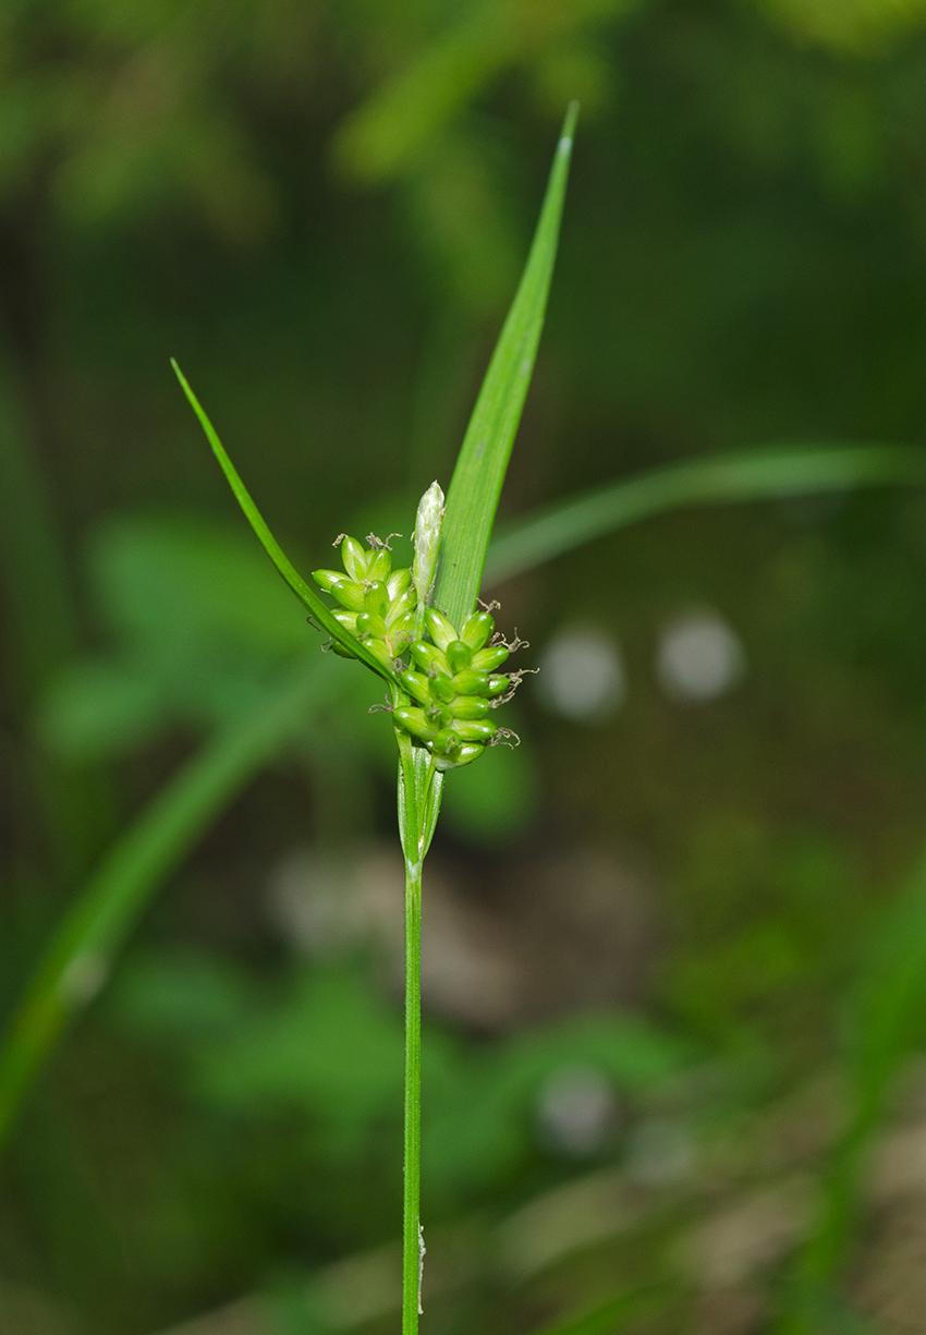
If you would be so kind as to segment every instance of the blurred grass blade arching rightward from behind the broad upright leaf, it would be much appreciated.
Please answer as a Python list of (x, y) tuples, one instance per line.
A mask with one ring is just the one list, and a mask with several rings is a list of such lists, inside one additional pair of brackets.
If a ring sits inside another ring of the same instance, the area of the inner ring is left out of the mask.
[(486, 579), (495, 582), (668, 510), (926, 482), (926, 450), (914, 445), (782, 445), (674, 463), (588, 491), (499, 535)]

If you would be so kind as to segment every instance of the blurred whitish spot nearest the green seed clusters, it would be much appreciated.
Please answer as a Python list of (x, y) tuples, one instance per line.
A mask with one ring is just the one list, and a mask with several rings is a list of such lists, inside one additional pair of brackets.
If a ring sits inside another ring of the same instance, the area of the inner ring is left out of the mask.
[(620, 650), (595, 627), (558, 631), (540, 655), (538, 694), (555, 714), (574, 722), (610, 718), (624, 698)]

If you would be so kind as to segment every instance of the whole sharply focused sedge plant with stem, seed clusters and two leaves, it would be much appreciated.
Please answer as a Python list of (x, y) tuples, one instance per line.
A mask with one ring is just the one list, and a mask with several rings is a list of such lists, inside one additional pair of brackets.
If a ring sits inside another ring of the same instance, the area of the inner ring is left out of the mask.
[(386, 542), (342, 534), (343, 570), (306, 581), (274, 538), (179, 366), (196, 413), (235, 497), (271, 561), (331, 637), (331, 649), (376, 673), (388, 688), (395, 733), (399, 834), (406, 865), (406, 1056), (402, 1331), (420, 1314), (424, 1239), (422, 1143), (422, 873), (448, 772), (508, 740), (494, 721), (519, 674), (499, 672), (515, 643), (495, 633), (478, 605), (488, 541), (515, 431), (527, 395), (550, 290), (578, 107), (567, 112), (536, 232), (514, 303), (476, 399), (447, 497), (434, 482), (415, 518), (411, 569), (392, 569)]

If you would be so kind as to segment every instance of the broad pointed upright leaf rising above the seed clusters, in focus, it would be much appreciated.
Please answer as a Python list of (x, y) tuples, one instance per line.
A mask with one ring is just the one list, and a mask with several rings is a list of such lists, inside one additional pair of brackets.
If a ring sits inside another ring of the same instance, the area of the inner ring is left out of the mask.
[(472, 611), (479, 593), (502, 483), (536, 360), (578, 113), (578, 104), (572, 103), (556, 147), (531, 252), (488, 363), (447, 493), (435, 602), (454, 625)]

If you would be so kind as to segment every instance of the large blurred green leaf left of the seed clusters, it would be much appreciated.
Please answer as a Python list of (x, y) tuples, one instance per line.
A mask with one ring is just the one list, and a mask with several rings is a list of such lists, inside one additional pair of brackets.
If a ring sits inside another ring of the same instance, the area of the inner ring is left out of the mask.
[(115, 522), (96, 537), (91, 589), (119, 651), (75, 665), (43, 730), (73, 758), (125, 753), (171, 724), (217, 724), (306, 650), (304, 623), (259, 549), (201, 521)]

